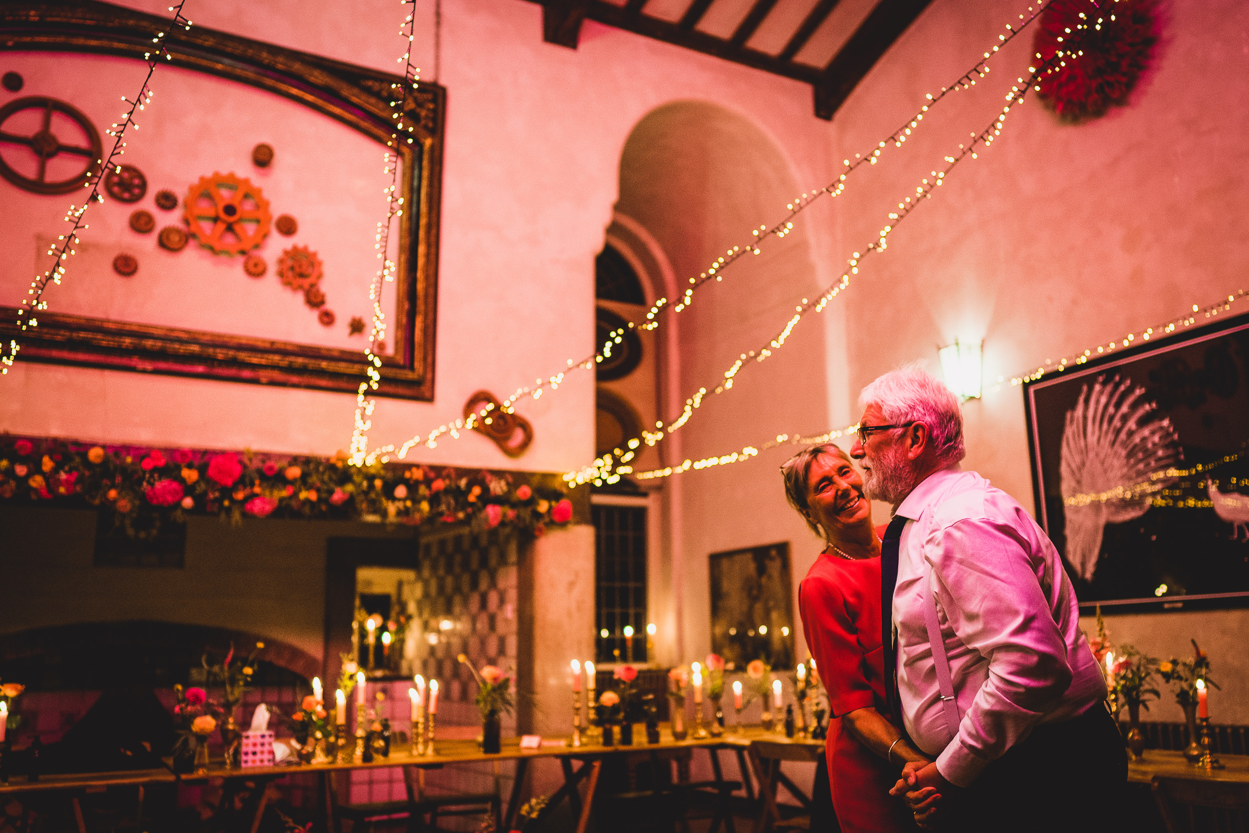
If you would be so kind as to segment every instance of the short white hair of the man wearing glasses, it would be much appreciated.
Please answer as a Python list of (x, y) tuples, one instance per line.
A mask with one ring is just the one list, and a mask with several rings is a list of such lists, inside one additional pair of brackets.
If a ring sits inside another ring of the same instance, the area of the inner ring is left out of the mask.
[(859, 407), (868, 405), (879, 406), (889, 425), (923, 422), (942, 463), (952, 466), (967, 456), (958, 398), (918, 365), (892, 370), (864, 387)]

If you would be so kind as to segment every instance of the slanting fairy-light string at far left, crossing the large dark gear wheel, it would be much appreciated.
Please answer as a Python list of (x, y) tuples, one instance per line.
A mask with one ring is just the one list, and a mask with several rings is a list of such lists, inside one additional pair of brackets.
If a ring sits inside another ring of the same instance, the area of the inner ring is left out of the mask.
[[(186, 5), (186, 0), (181, 0), (176, 6), (170, 6), (169, 10), (174, 12), (171, 19), (171, 29), (176, 26), (182, 26), (184, 30), (191, 27), (191, 21), (182, 16), (182, 6)], [(117, 165), (116, 159), (126, 152), (126, 131), (130, 127), (139, 130), (137, 122), (135, 122), (135, 110), (144, 110), (152, 101), (152, 90), (149, 84), (152, 80), (152, 74), (156, 71), (156, 65), (160, 62), (160, 57), (164, 55), (165, 60), (174, 60), (165, 49), (165, 39), (169, 36), (167, 32), (157, 32), (152, 37), (152, 46), (149, 51), (144, 52), (144, 60), (147, 62), (147, 75), (144, 77), (142, 86), (139, 87), (139, 95), (134, 99), (127, 99), (121, 96), (121, 100), (130, 105), (130, 109), (121, 114), (121, 121), (112, 122), (112, 127), (106, 130), (105, 134), (114, 137), (112, 150), (109, 151), (109, 156), (105, 160), (95, 160), (99, 166), (95, 174), (87, 177), (87, 181), (82, 184), (82, 187), (91, 189), (86, 196), (86, 201), (81, 206), (71, 205), (69, 211), (65, 212), (65, 222), (72, 222), (74, 226), (70, 229), (69, 234), (57, 236), (59, 242), (54, 242), (47, 247), (47, 255), (55, 255), (56, 260), (52, 261), (51, 269), (45, 271), (42, 275), (36, 275), (35, 280), (30, 283), (30, 290), (26, 292), (26, 297), (22, 298), (21, 306), (17, 310), (17, 328), (21, 332), (26, 332), (30, 327), (39, 326), (39, 318), (35, 317), (35, 312), (47, 308), (47, 302), (44, 301), (44, 290), (47, 285), (61, 282), (65, 277), (65, 262), (76, 254), (74, 246), (82, 242), (79, 236), (80, 231), (87, 230), (87, 224), (82, 221), (84, 215), (89, 206), (96, 202), (104, 202), (104, 195), (100, 194), (100, 185), (104, 182), (104, 177), (110, 170), (116, 166), (117, 171), (121, 171), (121, 166)], [(57, 246), (60, 249), (57, 250)], [(12, 362), (21, 350), (21, 345), (16, 338), (9, 340), (7, 350), (0, 346), (0, 376), (7, 376), (9, 368), (12, 367)]]

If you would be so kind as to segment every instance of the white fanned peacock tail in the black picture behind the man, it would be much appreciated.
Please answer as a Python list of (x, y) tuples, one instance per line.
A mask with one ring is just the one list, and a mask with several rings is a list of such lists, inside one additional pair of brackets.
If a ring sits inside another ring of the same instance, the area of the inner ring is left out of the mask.
[(1175, 482), (1184, 451), (1170, 420), (1130, 378), (1099, 376), (1080, 390), (1063, 428), (1060, 487), (1067, 561), (1093, 579), (1107, 523), (1139, 518)]

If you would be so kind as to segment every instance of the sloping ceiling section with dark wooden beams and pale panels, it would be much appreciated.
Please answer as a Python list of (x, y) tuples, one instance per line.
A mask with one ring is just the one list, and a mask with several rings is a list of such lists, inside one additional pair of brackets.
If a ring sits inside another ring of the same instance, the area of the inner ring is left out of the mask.
[(583, 20), (812, 86), (832, 119), (931, 0), (532, 0), (542, 37), (577, 47)]

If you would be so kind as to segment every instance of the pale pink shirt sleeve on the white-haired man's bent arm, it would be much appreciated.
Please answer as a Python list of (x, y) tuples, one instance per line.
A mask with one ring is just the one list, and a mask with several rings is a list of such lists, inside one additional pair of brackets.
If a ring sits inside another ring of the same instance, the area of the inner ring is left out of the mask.
[(965, 518), (936, 530), (933, 538), (924, 558), (938, 609), (958, 639), (988, 661), (988, 677), (958, 734), (937, 758), (947, 781), (967, 787), (1062, 698), (1072, 668), (1042, 589), (1045, 562), (1029, 557), (1017, 530)]

